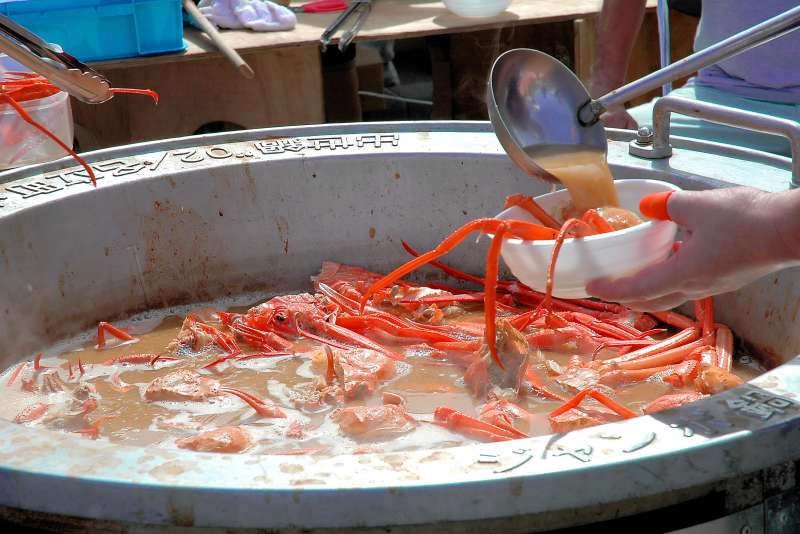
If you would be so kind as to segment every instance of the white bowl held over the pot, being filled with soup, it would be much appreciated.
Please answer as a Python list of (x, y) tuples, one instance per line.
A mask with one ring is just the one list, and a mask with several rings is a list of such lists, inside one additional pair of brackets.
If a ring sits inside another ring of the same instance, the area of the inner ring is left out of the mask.
[[(657, 180), (615, 180), (620, 206), (641, 215), (639, 200), (650, 193), (678, 191), (679, 187)], [(536, 197), (536, 201), (553, 215), (569, 202), (566, 190)], [(520, 219), (538, 222), (527, 211), (513, 207), (499, 219)], [(617, 278), (633, 274), (664, 260), (675, 242), (678, 227), (670, 221), (647, 221), (644, 224), (581, 239), (567, 239), (556, 263), (553, 295), (560, 298), (586, 298), (586, 285), (597, 278)], [(547, 268), (554, 240), (503, 243), (503, 260), (522, 283), (544, 291)]]

